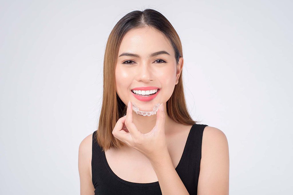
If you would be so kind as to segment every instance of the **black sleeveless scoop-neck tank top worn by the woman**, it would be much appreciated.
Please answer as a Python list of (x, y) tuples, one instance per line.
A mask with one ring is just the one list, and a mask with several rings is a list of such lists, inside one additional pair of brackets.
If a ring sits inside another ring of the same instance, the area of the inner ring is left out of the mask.
[[(202, 146), (202, 133), (208, 125), (194, 124), (188, 134), (183, 154), (175, 168), (181, 181), (190, 195), (197, 194), (197, 183), (200, 173), (200, 159)], [(111, 170), (101, 147), (98, 145), (93, 133), (92, 146), (92, 182), (95, 195), (115, 194), (162, 194), (159, 181), (152, 183), (134, 183), (121, 179)]]

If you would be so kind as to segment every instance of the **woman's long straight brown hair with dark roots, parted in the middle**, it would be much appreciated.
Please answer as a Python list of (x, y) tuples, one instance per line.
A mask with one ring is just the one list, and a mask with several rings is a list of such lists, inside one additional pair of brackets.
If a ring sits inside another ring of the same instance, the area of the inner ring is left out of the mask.
[[(121, 148), (126, 144), (112, 134), (112, 131), (121, 117), (125, 116), (127, 106), (122, 102), (116, 93), (115, 85), (115, 65), (123, 36), (132, 29), (152, 27), (171, 42), (175, 51), (175, 59), (178, 60), (182, 55), (182, 45), (180, 38), (171, 23), (161, 13), (153, 9), (144, 11), (132, 11), (121, 18), (112, 29), (105, 49), (103, 67), (103, 102), (100, 112), (95, 139), (102, 148), (108, 150), (111, 147)], [(168, 116), (177, 123), (193, 125), (193, 121), (185, 102), (182, 74), (175, 85), (173, 93), (166, 102), (166, 112)]]

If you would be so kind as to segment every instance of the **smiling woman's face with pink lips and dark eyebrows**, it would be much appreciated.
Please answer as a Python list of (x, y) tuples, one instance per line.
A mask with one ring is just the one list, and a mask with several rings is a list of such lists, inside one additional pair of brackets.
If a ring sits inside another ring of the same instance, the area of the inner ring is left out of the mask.
[[(163, 52), (151, 55), (159, 51)], [(173, 47), (161, 32), (150, 27), (133, 29), (123, 37), (118, 51), (115, 68), (117, 94), (125, 105), (130, 100), (141, 111), (151, 111), (157, 103), (166, 105), (178, 83), (182, 66), (183, 58), (177, 65)], [(159, 90), (149, 97), (132, 92), (133, 88), (149, 86)]]

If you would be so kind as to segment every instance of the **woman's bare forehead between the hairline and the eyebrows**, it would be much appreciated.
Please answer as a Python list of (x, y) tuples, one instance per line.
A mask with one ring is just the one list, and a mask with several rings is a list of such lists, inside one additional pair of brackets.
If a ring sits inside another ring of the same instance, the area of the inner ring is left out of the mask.
[(144, 27), (132, 29), (125, 34), (121, 41), (118, 55), (123, 52), (131, 52), (145, 57), (149, 53), (162, 50), (170, 54), (173, 53), (170, 41), (162, 32), (150, 27)]

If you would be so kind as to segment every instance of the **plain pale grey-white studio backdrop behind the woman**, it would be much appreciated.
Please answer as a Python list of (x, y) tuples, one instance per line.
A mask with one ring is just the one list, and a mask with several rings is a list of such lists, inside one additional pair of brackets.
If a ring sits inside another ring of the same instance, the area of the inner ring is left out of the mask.
[(103, 55), (152, 8), (183, 45), (188, 109), (229, 143), (230, 194), (292, 193), (292, 1), (1, 1), (0, 194), (79, 194)]

